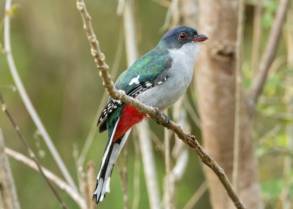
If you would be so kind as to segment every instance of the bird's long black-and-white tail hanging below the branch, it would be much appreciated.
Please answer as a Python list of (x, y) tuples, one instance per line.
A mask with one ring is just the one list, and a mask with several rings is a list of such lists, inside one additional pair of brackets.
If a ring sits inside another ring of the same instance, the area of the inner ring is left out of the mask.
[(93, 194), (93, 200), (96, 199), (97, 204), (99, 203), (99, 201), (103, 201), (106, 192), (110, 192), (110, 177), (112, 174), (114, 163), (116, 162), (117, 157), (131, 131), (131, 129), (129, 129), (123, 136), (121, 136), (115, 142), (113, 142), (113, 137), (119, 119), (117, 120), (111, 138), (108, 141), (108, 145), (105, 149), (105, 153), (103, 155), (102, 163), (100, 166), (100, 171), (97, 177), (96, 189)]

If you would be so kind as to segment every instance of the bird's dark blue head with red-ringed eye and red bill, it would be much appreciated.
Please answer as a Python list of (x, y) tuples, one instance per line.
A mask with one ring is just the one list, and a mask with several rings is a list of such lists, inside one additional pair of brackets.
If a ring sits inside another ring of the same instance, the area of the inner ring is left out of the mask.
[(159, 42), (159, 45), (179, 49), (186, 43), (200, 43), (207, 39), (205, 35), (197, 33), (193, 28), (180, 26), (168, 31)]

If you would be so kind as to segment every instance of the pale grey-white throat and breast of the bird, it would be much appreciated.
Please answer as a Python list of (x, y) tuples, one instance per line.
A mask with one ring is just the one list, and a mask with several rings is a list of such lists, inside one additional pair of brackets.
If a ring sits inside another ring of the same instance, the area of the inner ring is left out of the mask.
[(168, 50), (173, 61), (168, 71), (168, 79), (160, 85), (143, 91), (137, 95), (137, 99), (142, 103), (158, 107), (164, 110), (173, 105), (184, 94), (189, 86), (193, 66), (197, 53), (200, 51), (200, 43), (187, 43), (180, 49)]

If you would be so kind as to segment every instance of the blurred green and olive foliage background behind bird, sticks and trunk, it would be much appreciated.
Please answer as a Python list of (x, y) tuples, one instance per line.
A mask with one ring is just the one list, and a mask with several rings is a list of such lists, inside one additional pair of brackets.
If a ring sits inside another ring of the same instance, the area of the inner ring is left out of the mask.
[[(110, 69), (115, 59), (115, 51), (119, 36), (122, 35), (120, 26), (121, 17), (116, 15), (117, 2), (114, 1), (86, 1), (88, 12), (92, 17), (92, 24), (100, 42), (100, 48), (106, 56)], [(0, 1), (0, 19), (4, 17), (4, 1)], [(276, 0), (263, 1), (264, 8), (261, 17), (260, 54), (263, 52), (268, 31), (272, 24), (278, 6)], [(156, 4), (154, 1), (139, 0), (135, 3), (137, 16), (137, 31), (140, 54), (143, 55), (156, 46), (163, 34), (158, 31), (164, 24), (168, 8)], [(76, 168), (72, 157), (72, 145), (77, 142), (81, 150), (88, 131), (91, 127), (96, 111), (103, 95), (103, 85), (98, 70), (90, 54), (88, 40), (82, 29), (82, 20), (75, 1), (24, 1), (19, 0), (11, 10), (12, 52), (16, 66), (25, 85), (25, 88), (40, 115), (48, 133), (59, 150), (62, 159), (67, 165), (75, 182), (77, 183)], [(14, 92), (13, 79), (7, 66), (6, 56), (3, 53), (3, 21), (0, 24), (0, 88), (7, 107), (20, 126), (25, 138), (35, 153), (41, 153), (40, 162), (62, 177), (49, 150), (42, 138), (36, 133), (35, 125), (30, 119), (18, 92)], [(246, 8), (246, 24), (243, 45), (243, 79), (244, 86), (248, 88), (254, 73), (251, 71), (253, 6)], [(132, 35), (132, 34), (128, 34)], [(125, 52), (118, 73), (113, 80), (126, 69)], [(286, 56), (286, 43), (282, 38), (277, 58)], [(284, 59), (279, 60), (284, 60)], [(285, 82), (288, 75), (292, 76), (293, 67), (283, 63), (270, 71), (268, 81), (263, 90), (264, 100), (256, 107), (258, 112), (255, 121), (256, 152), (259, 156), (259, 165), (262, 179), (263, 197), (267, 208), (274, 208), (282, 187), (288, 183), (283, 178), (283, 162), (285, 155), (274, 154), (270, 150), (274, 147), (286, 148), (286, 125), (292, 125), (292, 116), (280, 118), (280, 112), (286, 112), (283, 102), (285, 95)], [(292, 85), (289, 84), (289, 85)], [(188, 90), (188, 97), (195, 98), (194, 90)], [(269, 102), (273, 100), (273, 102)], [(190, 99), (191, 101), (191, 99)], [(192, 104), (194, 107), (195, 104)], [(189, 118), (193, 127), (191, 131), (200, 141), (200, 130)], [(276, 129), (273, 136), (268, 133)], [(151, 129), (163, 139), (163, 129), (154, 122), (150, 122)], [(4, 132), (6, 146), (21, 153), (26, 153), (16, 133), (3, 112), (0, 112), (0, 127)], [(267, 137), (269, 136), (269, 137)], [(262, 139), (262, 140), (259, 140)], [(132, 141), (132, 138), (129, 138)], [(136, 139), (133, 139), (136, 140)], [(103, 155), (107, 133), (96, 134), (95, 140), (87, 155), (86, 161), (93, 159), (100, 165)], [(130, 205), (133, 200), (133, 169), (134, 147), (129, 143), (129, 197)], [(46, 155), (44, 156), (44, 153)], [(165, 173), (164, 157), (158, 150), (156, 165), (160, 185)], [(44, 158), (42, 158), (44, 157)], [(47, 184), (34, 170), (10, 158), (13, 175), (16, 181), (21, 207), (26, 208), (59, 208)], [(174, 163), (174, 162), (173, 162)], [(148, 208), (148, 198), (144, 182), (144, 173), (140, 169), (140, 202), (139, 208)], [(291, 174), (291, 179), (293, 175)], [(180, 183), (175, 200), (176, 206), (182, 208), (196, 189), (204, 181), (202, 163), (194, 152), (190, 151), (190, 160), (183, 181)], [(190, 182), (193, 182), (190, 184)], [(292, 182), (292, 181), (291, 181)], [(122, 208), (122, 189), (120, 177), (115, 166), (111, 178), (111, 192), (99, 204), (99, 208)], [(292, 185), (292, 183), (291, 183)], [(161, 192), (162, 192), (162, 188)], [(59, 190), (62, 198), (71, 209), (78, 208), (66, 193)], [(293, 195), (293, 188), (290, 187)], [(208, 192), (200, 198), (194, 208), (211, 208)]]

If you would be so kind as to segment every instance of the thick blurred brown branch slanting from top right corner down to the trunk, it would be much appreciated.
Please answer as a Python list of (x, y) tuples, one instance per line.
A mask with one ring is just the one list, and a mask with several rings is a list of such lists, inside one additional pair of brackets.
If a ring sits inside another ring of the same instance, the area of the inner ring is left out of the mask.
[(251, 87), (248, 90), (248, 107), (251, 109), (254, 107), (255, 102), (258, 100), (265, 80), (268, 75), (268, 70), (274, 60), (277, 53), (277, 47), (279, 46), (280, 36), (282, 32), (282, 26), (285, 21), (286, 11), (289, 5), (289, 0), (280, 0), (279, 7), (276, 12), (275, 20), (272, 24), (265, 52), (260, 60), (258, 66), (258, 72), (252, 80)]

